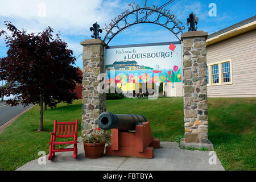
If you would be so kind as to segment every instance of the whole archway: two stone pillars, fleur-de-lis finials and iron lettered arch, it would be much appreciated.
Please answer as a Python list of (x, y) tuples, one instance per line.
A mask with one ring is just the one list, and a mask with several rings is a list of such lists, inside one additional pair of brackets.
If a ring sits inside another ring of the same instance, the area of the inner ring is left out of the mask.
[[(106, 95), (98, 92), (98, 85), (105, 80), (98, 80), (98, 76), (105, 72), (105, 48), (119, 32), (139, 23), (153, 23), (167, 28), (178, 40), (181, 40), (181, 64), (182, 87), (184, 97), (184, 139), (181, 139), (181, 147), (207, 147), (212, 150), (213, 145), (208, 140), (208, 116), (207, 116), (207, 51), (206, 39), (208, 32), (196, 31), (198, 18), (195, 14), (189, 15), (187, 25), (189, 32), (183, 33), (183, 23), (176, 19), (163, 7), (140, 8), (138, 5), (133, 11), (129, 10), (118, 15), (104, 29), (107, 31), (104, 41), (100, 40), (99, 32), (102, 32), (97, 23), (93, 24), (92, 38), (81, 42), (83, 49), (83, 82), (82, 82), (82, 134), (97, 126), (99, 115), (106, 111)], [(154, 13), (155, 19), (150, 14)], [(141, 15), (144, 15), (140, 18)], [(129, 22), (129, 16), (134, 20)], [(164, 21), (163, 19), (166, 19)], [(121, 26), (122, 25), (122, 26)], [(177, 36), (181, 33), (181, 39)], [(172, 45), (170, 45), (172, 46)], [(171, 49), (172, 47), (170, 47)], [(143, 54), (142, 54), (143, 55)], [(157, 54), (155, 54), (157, 55)], [(125, 57), (123, 57), (125, 59)], [(132, 62), (133, 64), (134, 62)], [(139, 67), (143, 65), (134, 65)], [(113, 67), (112, 67), (113, 68)], [(175, 69), (175, 68), (174, 68)]]

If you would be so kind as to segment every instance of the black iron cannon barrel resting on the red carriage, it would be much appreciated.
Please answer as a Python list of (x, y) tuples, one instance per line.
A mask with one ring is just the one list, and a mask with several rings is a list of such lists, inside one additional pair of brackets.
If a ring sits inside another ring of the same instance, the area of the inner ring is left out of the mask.
[(104, 112), (98, 117), (98, 126), (102, 130), (135, 130), (135, 126), (142, 125), (144, 121), (147, 121), (147, 119), (143, 115)]

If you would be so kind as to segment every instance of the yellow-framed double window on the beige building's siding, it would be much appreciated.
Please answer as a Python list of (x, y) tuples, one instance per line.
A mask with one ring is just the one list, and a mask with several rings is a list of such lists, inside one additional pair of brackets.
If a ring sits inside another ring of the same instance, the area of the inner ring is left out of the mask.
[(232, 84), (232, 60), (208, 64), (206, 78), (208, 86)]

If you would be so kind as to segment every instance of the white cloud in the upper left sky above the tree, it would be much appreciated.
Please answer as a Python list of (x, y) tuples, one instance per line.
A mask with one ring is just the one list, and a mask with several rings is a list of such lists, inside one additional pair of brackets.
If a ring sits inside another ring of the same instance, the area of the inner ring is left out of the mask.
[[(45, 5), (45, 16), (42, 7)], [(64, 1), (64, 0), (9, 0), (0, 2), (1, 19), (11, 19), (17, 27), (24, 27), (29, 32), (42, 31), (51, 26), (69, 35), (88, 35), (88, 27), (96, 21), (109, 22), (113, 13), (120, 9), (120, 0), (102, 1)], [(122, 7), (122, 6), (121, 6)]]

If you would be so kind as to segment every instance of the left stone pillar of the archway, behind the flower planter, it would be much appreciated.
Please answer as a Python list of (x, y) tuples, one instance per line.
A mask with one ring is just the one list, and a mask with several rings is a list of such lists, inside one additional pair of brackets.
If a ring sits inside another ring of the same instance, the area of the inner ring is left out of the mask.
[(81, 42), (83, 78), (82, 78), (82, 134), (97, 127), (98, 116), (105, 111), (105, 94), (98, 92), (98, 75), (104, 73), (104, 47), (100, 39)]

